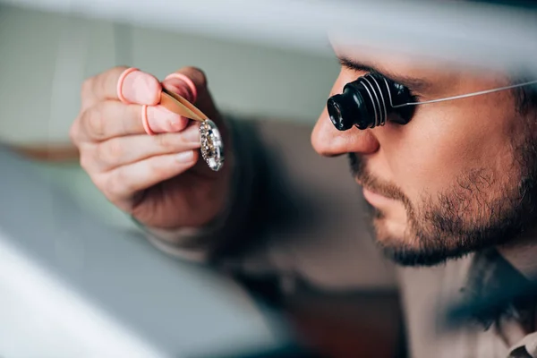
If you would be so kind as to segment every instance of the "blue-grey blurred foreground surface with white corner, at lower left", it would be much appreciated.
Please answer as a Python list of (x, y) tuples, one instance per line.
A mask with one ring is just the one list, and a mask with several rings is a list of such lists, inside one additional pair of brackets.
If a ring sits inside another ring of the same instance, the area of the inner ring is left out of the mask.
[(103, 225), (52, 172), (5, 149), (0, 166), (1, 355), (188, 357), (285, 342), (231, 280)]

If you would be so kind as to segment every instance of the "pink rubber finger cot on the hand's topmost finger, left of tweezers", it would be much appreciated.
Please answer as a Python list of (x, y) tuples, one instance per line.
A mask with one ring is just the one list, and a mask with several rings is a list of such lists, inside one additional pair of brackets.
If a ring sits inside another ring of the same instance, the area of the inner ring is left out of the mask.
[(149, 73), (134, 71), (124, 79), (124, 98), (140, 105), (156, 105), (160, 97), (160, 83)]

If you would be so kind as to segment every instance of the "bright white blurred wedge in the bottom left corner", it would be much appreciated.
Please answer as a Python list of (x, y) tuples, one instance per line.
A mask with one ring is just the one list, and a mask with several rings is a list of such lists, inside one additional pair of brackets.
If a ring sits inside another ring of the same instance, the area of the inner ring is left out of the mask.
[(8, 244), (0, 231), (0, 356), (164, 357)]

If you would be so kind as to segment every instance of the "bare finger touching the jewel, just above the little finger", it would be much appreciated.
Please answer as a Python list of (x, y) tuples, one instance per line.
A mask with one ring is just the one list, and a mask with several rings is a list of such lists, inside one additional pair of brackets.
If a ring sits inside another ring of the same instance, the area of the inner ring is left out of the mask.
[(200, 125), (196, 123), (179, 133), (117, 137), (95, 147), (95, 166), (90, 170), (106, 172), (147, 158), (193, 149), (200, 149)]

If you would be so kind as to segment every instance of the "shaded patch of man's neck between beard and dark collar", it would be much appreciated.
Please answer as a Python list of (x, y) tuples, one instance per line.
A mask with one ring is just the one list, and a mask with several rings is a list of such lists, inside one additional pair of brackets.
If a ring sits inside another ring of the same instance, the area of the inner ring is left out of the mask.
[(537, 280), (537, 228), (513, 243), (499, 246), (498, 251), (524, 277)]

